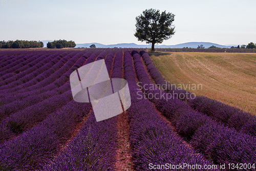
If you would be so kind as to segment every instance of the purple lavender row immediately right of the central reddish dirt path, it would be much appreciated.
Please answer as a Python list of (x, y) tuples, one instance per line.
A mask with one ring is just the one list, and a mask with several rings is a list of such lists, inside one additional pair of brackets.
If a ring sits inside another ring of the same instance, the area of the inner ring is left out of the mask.
[[(128, 109), (131, 125), (130, 141), (133, 146), (133, 164), (136, 170), (152, 170), (151, 165), (189, 165), (201, 166), (212, 164), (204, 161), (203, 156), (191, 148), (187, 148), (170, 127), (160, 118), (153, 105), (147, 99), (140, 99), (140, 91), (135, 83), (132, 56), (124, 53), (124, 75), (129, 83), (132, 105)], [(166, 167), (165, 167), (166, 169)], [(162, 170), (165, 170), (162, 168)], [(168, 169), (168, 168), (167, 168)], [(172, 168), (181, 170), (182, 168)], [(191, 170), (184, 168), (182, 170)], [(195, 169), (200, 170), (200, 169)], [(214, 170), (214, 169), (205, 169)]]

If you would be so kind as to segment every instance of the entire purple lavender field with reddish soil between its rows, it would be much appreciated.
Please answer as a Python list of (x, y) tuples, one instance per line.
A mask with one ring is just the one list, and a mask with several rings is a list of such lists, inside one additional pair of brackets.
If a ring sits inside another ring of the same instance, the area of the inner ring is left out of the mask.
[[(69, 79), (100, 59), (132, 104), (96, 122)], [(254, 115), (156, 84), (166, 86), (143, 49), (0, 51), (0, 170), (256, 170)]]

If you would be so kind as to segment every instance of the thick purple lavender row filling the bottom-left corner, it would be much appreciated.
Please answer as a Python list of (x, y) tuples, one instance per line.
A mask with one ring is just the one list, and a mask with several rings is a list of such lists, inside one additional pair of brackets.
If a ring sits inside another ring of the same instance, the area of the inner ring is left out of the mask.
[(34, 170), (60, 152), (91, 109), (89, 103), (71, 101), (44, 121), (0, 145), (1, 170)]

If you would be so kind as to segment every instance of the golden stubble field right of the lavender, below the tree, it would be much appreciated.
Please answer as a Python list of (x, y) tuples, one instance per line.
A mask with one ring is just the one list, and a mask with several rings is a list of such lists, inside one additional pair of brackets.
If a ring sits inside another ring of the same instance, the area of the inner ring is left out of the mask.
[[(184, 84), (187, 91), (196, 95), (216, 99), (256, 115), (255, 53), (149, 54), (157, 69), (170, 83)], [(202, 89), (192, 90), (194, 84), (202, 84)]]

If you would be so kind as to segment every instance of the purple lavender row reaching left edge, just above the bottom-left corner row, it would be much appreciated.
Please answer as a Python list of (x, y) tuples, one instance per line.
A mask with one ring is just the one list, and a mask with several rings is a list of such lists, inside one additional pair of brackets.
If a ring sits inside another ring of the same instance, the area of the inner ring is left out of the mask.
[[(86, 64), (89, 63), (89, 59), (90, 61), (94, 61), (96, 57), (96, 55), (91, 55), (86, 61)], [(25, 108), (24, 110), (11, 114), (0, 123), (0, 142), (15, 137), (30, 129), (34, 124), (44, 120), (50, 113), (72, 99), (73, 96), (71, 90), (69, 90), (63, 94), (48, 98), (40, 103)]]

